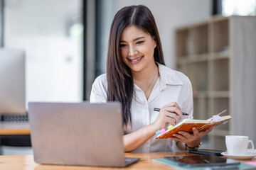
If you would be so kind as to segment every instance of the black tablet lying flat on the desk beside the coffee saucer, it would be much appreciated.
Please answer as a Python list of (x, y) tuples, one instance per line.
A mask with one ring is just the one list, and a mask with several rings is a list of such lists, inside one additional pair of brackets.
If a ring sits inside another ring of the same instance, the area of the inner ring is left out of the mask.
[(164, 157), (171, 162), (178, 162), (179, 166), (227, 166), (238, 165), (240, 162), (233, 159), (217, 157), (211, 154), (188, 155), (181, 157)]

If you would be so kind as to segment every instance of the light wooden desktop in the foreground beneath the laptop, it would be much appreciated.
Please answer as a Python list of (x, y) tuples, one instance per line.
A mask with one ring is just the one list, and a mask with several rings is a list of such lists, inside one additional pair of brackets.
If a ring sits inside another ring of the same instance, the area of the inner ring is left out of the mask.
[[(152, 152), (152, 153), (127, 153), (126, 157), (140, 157), (139, 162), (127, 166), (122, 169), (172, 169), (164, 164), (153, 162), (152, 159), (161, 159), (168, 156), (182, 156), (191, 155), (188, 152)], [(0, 169), (5, 170), (83, 170), (83, 169), (113, 169), (113, 168), (100, 168), (92, 166), (56, 166), (56, 165), (40, 165), (33, 161), (33, 155), (22, 156), (0, 156)]]

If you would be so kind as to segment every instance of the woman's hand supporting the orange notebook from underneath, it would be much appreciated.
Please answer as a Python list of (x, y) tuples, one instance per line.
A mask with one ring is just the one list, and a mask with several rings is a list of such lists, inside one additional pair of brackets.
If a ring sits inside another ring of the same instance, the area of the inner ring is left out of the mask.
[(183, 142), (188, 145), (188, 147), (196, 147), (200, 144), (201, 138), (206, 136), (214, 127), (215, 126), (212, 126), (201, 132), (198, 132), (196, 128), (192, 128), (193, 133), (179, 131), (178, 133), (174, 133), (174, 137), (169, 137), (169, 139)]

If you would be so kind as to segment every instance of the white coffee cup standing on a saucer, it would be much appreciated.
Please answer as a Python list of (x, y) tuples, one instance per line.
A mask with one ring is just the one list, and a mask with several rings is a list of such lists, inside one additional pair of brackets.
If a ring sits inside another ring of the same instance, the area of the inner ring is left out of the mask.
[[(247, 149), (249, 143), (252, 145), (251, 149)], [(226, 135), (225, 145), (228, 149), (228, 154), (242, 155), (245, 154), (247, 150), (254, 149), (252, 140), (249, 140), (249, 137), (247, 136)]]

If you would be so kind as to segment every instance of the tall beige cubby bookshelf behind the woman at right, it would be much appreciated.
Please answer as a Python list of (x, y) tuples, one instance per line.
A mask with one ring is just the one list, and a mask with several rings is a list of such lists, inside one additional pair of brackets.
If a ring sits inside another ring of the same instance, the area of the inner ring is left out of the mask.
[(210, 132), (213, 149), (225, 149), (229, 134), (256, 140), (255, 18), (215, 16), (176, 30), (176, 67), (191, 80), (194, 118), (206, 120), (226, 108), (223, 115), (233, 117)]

